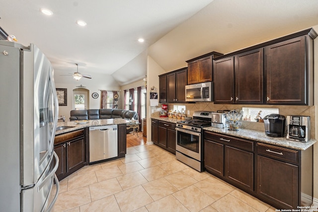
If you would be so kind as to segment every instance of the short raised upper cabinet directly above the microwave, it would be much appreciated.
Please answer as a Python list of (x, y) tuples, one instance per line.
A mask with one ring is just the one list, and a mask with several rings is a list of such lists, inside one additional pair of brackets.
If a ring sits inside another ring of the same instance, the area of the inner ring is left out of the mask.
[(188, 63), (188, 84), (213, 81), (212, 60), (223, 54), (211, 52), (186, 61)]

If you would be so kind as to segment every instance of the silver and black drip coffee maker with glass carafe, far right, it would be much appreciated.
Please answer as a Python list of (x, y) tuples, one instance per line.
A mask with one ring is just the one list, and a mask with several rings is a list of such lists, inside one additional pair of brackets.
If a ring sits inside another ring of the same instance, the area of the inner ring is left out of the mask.
[(292, 141), (309, 141), (310, 116), (287, 116), (286, 138)]

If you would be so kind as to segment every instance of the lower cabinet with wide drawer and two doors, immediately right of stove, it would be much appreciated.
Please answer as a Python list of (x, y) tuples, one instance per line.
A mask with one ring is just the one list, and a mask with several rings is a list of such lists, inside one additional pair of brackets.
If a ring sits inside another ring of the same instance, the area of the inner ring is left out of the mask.
[(253, 142), (208, 132), (204, 138), (203, 158), (207, 171), (240, 188), (253, 190)]

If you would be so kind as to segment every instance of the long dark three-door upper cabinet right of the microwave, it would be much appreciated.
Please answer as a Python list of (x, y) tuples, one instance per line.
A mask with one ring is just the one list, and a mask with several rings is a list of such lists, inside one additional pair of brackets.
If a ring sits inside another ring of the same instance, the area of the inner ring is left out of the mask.
[(214, 102), (312, 105), (317, 36), (311, 28), (214, 60)]

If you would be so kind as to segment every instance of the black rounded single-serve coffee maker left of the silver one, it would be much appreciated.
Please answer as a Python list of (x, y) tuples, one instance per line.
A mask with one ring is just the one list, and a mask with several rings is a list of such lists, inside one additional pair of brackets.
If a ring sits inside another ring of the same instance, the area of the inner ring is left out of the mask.
[(270, 114), (264, 117), (265, 134), (270, 137), (284, 137), (286, 117)]

